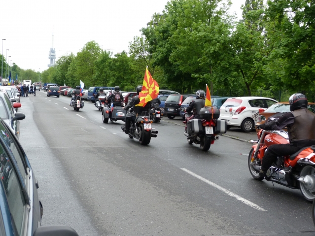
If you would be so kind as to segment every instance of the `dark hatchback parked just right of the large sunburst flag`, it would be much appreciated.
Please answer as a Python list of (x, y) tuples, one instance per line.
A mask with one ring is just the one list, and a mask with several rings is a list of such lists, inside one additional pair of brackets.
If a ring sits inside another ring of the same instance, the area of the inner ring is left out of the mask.
[(164, 104), (164, 112), (169, 119), (174, 119), (179, 116), (181, 103), (188, 97), (195, 96), (194, 94), (171, 94), (166, 99)]

